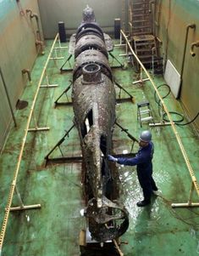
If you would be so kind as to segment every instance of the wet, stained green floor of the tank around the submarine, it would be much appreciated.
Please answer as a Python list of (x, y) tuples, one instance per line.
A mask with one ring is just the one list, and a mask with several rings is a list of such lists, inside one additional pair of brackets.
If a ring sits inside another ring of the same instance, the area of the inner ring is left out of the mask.
[[(1, 224), (30, 106), (52, 43), (47, 42), (46, 54), (36, 60), (31, 73), (32, 83), (27, 84), (20, 99), (28, 101), (29, 105), (16, 112), (18, 126), (11, 129), (0, 158)], [(62, 53), (66, 60), (67, 49)], [(115, 48), (115, 56), (121, 53), (122, 49)], [(77, 256), (80, 253), (79, 233), (81, 229), (86, 228), (86, 220), (80, 216), (80, 209), (85, 207), (81, 163), (57, 163), (45, 167), (44, 160), (47, 153), (73, 124), (71, 106), (54, 107), (54, 101), (69, 86), (72, 79), (71, 72), (59, 72), (64, 60), (50, 60), (47, 66), (49, 82), (58, 83), (58, 88), (40, 89), (34, 113), (38, 127), (49, 127), (50, 130), (28, 134), (17, 179), (17, 187), (24, 204), (41, 203), (41, 209), (10, 213), (3, 243), (4, 256)], [(119, 60), (126, 63), (122, 57), (119, 57)], [(160, 121), (154, 90), (150, 82), (133, 85), (132, 82), (139, 77), (130, 66), (125, 70), (114, 69), (113, 73), (117, 82), (135, 97), (135, 104), (125, 102), (116, 105), (117, 122), (127, 128), (130, 134), (138, 137), (141, 129), (148, 129), (149, 125), (146, 122), (141, 128), (137, 122), (137, 102), (149, 100), (155, 122)], [(157, 86), (163, 84), (163, 77), (152, 77)], [(116, 88), (116, 91), (119, 96), (119, 88)], [(167, 88), (160, 88), (162, 95), (167, 94), (167, 91)], [(60, 101), (70, 100), (70, 93), (71, 91), (68, 93), (68, 99), (64, 95)], [(121, 97), (127, 96), (123, 91), (120, 93)], [(174, 100), (172, 94), (169, 94), (164, 102), (169, 111), (183, 113), (179, 101)], [(30, 127), (35, 128), (33, 121)], [(120, 200), (130, 213), (130, 227), (120, 238), (120, 248), (125, 256), (199, 255), (199, 208), (170, 206), (172, 202), (187, 202), (191, 188), (191, 177), (180, 148), (169, 126), (150, 129), (155, 144), (153, 176), (159, 188), (159, 196), (153, 197), (150, 206), (137, 208), (136, 202), (142, 198), (142, 194), (135, 168), (118, 166)], [(177, 127), (177, 130), (191, 167), (199, 180), (198, 137), (191, 126)], [(130, 152), (132, 141), (121, 129), (115, 127), (113, 145), (115, 154)], [(135, 145), (133, 151), (137, 148)], [(80, 156), (80, 142), (75, 129), (69, 133), (69, 138), (64, 140), (61, 151), (64, 156)], [(61, 152), (54, 151), (53, 157), (58, 156), (61, 156)], [(199, 202), (196, 192), (194, 199), (195, 202)], [(17, 197), (14, 196), (13, 206), (18, 205)]]

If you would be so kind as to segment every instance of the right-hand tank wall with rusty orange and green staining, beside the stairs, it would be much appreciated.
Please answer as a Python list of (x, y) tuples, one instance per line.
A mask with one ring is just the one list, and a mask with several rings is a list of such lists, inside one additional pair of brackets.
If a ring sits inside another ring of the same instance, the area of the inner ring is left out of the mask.
[[(157, 31), (163, 42), (162, 52), (179, 73), (183, 65), (186, 27), (192, 23), (196, 24), (196, 30), (190, 29), (188, 35), (180, 93), (180, 101), (192, 119), (199, 111), (199, 48), (194, 48), (195, 57), (190, 54), (191, 43), (199, 41), (199, 1), (161, 0), (158, 1), (158, 9), (160, 12)], [(195, 124), (198, 129), (199, 118)]]

